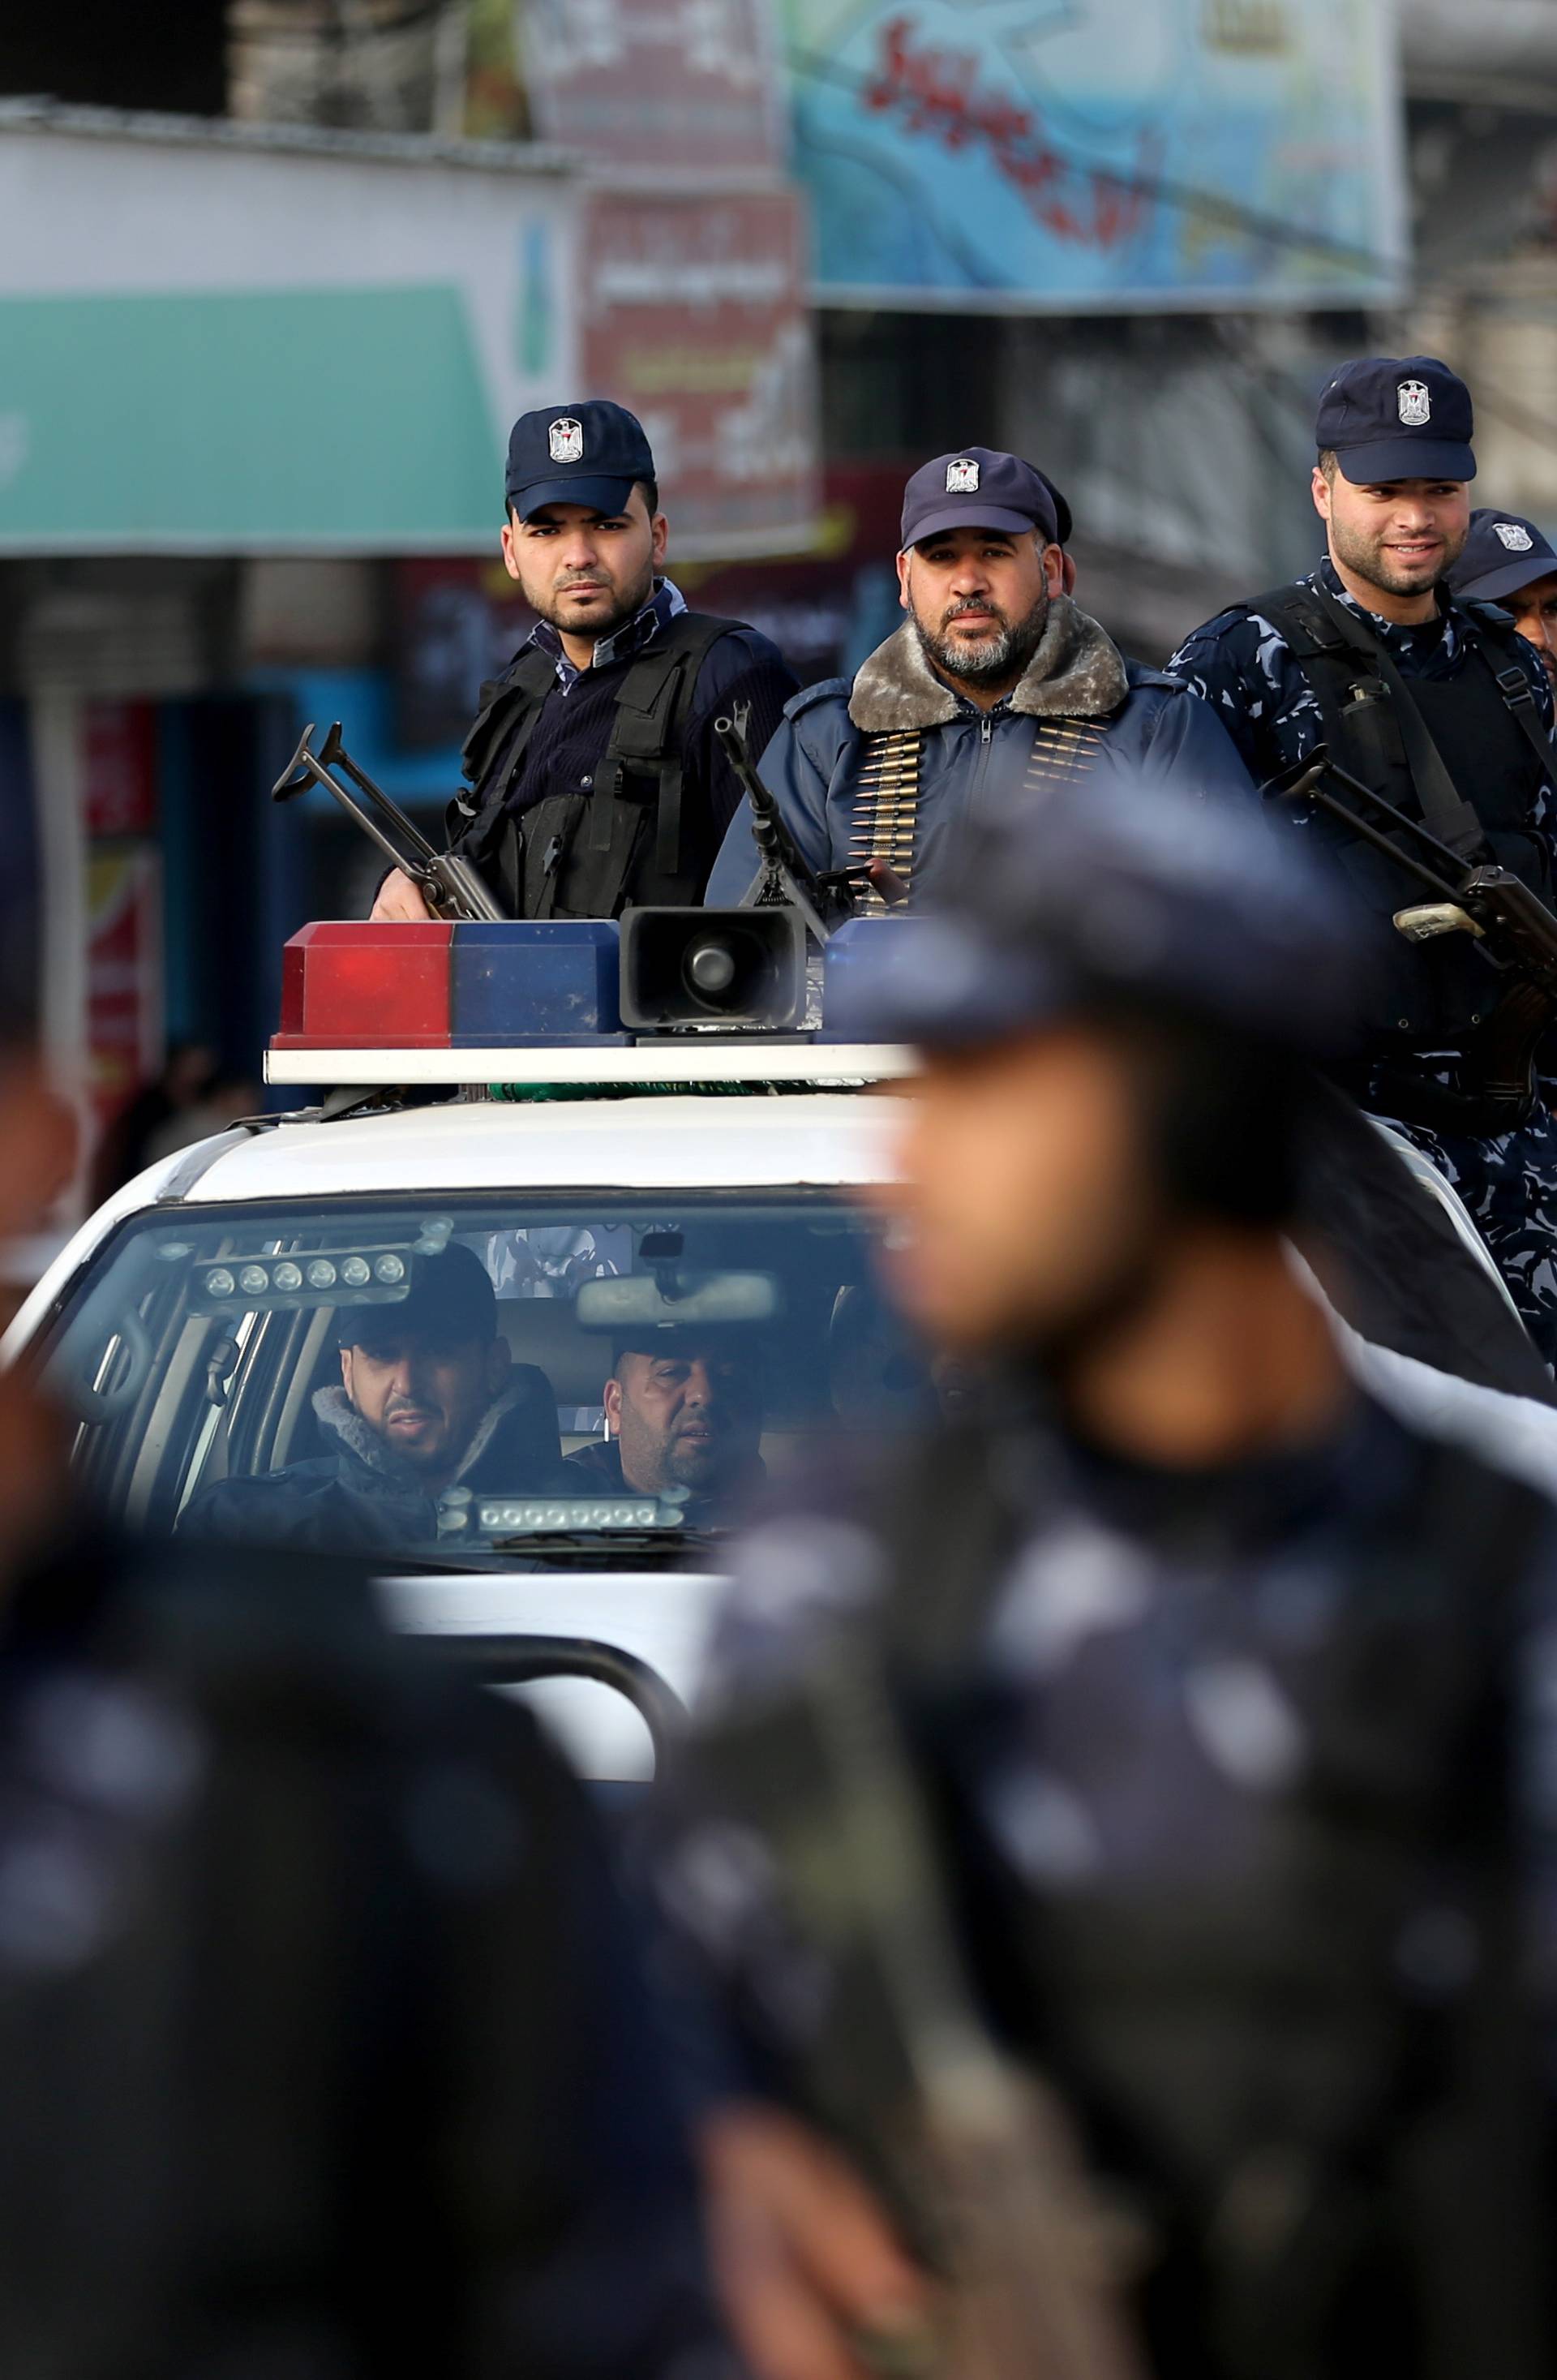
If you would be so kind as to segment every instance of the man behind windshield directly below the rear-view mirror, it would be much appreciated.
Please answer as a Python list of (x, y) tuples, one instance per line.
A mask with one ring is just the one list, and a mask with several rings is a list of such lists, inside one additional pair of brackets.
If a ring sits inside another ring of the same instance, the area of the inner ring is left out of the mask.
[[(581, 1495), (652, 1495), (683, 1502), (688, 1528), (726, 1528), (767, 1476), (762, 1361), (731, 1330), (648, 1326), (621, 1335), (605, 1383), (609, 1438), (569, 1454)], [(588, 1483), (588, 1485), (586, 1485)]]

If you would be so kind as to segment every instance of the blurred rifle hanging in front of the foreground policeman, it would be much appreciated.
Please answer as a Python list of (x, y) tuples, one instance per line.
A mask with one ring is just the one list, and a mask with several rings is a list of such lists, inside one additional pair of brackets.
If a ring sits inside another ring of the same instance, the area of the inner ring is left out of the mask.
[[(864, 1637), (750, 1714), (700, 1726), (693, 1773), (776, 1864), (826, 1992), (807, 2111), (945, 2278), (936, 2380), (1143, 2380), (1124, 2306), (1143, 2235), (1095, 2197), (1057, 2092), (990, 2040), (962, 1971), (928, 1806)], [(805, 1973), (800, 1961), (798, 1973)], [(859, 2337), (881, 2373), (900, 2340)]]

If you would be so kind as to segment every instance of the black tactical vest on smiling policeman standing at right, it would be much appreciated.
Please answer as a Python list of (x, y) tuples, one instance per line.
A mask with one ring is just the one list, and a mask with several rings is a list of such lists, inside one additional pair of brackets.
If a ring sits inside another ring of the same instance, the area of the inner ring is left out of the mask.
[[(1409, 819), (1428, 816), (1433, 826), (1431, 804), (1424, 804), (1407, 759), (1397, 697), (1369, 654), (1347, 640), (1331, 609), (1309, 588), (1286, 585), (1262, 595), (1250, 612), (1269, 619), (1286, 638), (1319, 702), (1331, 759)], [(1469, 645), (1459, 674), (1409, 678), (1405, 685), (1452, 788), (1481, 826), (1481, 850), (1462, 857), (1471, 864), (1490, 854), (1550, 902), (1547, 852), (1531, 833), (1531, 819), (1538, 814), (1540, 785), (1557, 783), (1557, 750), (1540, 724), (1528, 674), (1519, 666), (1509, 621), (1493, 605), (1478, 602), (1457, 602), (1455, 621)], [(1371, 643), (1362, 621), (1357, 640)], [(1428, 895), (1328, 812), (1314, 809), (1305, 835), (1336, 854), (1362, 904), (1381, 921), (1381, 976), (1369, 1019), (1376, 1045), (1402, 1054), (1464, 1050), (1500, 997), (1500, 981), (1488, 962), (1467, 935), (1407, 942), (1395, 933), (1395, 912)]]

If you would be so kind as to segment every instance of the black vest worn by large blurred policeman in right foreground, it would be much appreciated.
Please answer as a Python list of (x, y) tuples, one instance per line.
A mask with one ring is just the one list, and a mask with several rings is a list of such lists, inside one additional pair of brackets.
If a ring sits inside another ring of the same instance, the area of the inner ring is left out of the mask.
[(1038, 1902), (974, 1809), (993, 1721), (976, 1649), (1021, 1535), (1000, 1478), (981, 1430), (902, 1468), (883, 1654), (990, 2009), (1155, 2230), (1152, 2373), (1547, 2375), (1505, 1683), (1545, 1502), (1424, 1445), (1412, 1507), (1350, 1547), (1302, 1692), (1302, 1780), (1257, 1816), (1240, 1885), (1121, 1875)]

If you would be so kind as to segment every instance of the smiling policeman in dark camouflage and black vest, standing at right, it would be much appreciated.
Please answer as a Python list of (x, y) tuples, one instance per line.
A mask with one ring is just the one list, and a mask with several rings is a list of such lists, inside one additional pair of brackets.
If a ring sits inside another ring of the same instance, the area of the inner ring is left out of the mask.
[[(1171, 666), (1217, 707), (1257, 783), (1324, 743), (1467, 864), (1490, 854), (1552, 902), (1552, 690), (1505, 612), (1450, 590), (1476, 471), (1464, 381), (1426, 355), (1343, 364), (1317, 438), (1326, 557), (1217, 614)], [(1557, 1126), (1545, 1102), (1517, 1128), (1488, 1114), (1478, 1028), (1500, 985), (1464, 935), (1395, 931), (1421, 892), (1386, 854), (1319, 812), (1293, 823), (1336, 854), (1376, 921), (1381, 992), (1355, 1090), (1455, 1183), (1555, 1361)]]

